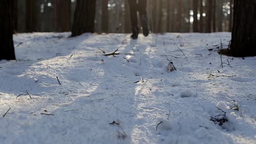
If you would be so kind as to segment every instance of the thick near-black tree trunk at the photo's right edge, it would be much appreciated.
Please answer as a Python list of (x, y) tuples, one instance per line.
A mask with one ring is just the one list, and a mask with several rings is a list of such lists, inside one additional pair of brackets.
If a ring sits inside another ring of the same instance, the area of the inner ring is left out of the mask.
[(256, 56), (256, 1), (234, 0), (234, 20), (230, 54)]

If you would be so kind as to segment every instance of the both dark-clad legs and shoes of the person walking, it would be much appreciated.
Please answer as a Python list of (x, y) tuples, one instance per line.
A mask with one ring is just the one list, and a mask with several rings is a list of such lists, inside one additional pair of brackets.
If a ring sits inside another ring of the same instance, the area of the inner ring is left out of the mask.
[(140, 14), (141, 26), (144, 36), (148, 36), (148, 18), (147, 18), (147, 0), (128, 0), (131, 15), (131, 30), (132, 39), (138, 39), (139, 28), (138, 28), (138, 17), (137, 12)]

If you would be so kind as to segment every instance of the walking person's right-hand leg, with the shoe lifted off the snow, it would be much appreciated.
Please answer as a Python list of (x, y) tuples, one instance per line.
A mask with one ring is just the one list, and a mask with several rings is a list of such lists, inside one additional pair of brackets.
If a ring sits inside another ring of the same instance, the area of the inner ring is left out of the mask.
[(148, 18), (147, 18), (147, 0), (138, 0), (138, 11), (141, 16), (141, 26), (143, 30), (143, 35), (148, 36)]

